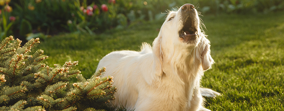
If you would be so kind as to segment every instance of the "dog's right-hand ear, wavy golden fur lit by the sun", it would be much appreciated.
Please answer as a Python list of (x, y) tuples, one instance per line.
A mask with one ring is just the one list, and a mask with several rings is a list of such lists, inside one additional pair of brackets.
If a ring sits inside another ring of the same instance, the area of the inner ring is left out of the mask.
[(198, 45), (199, 49), (197, 49), (197, 58), (201, 60), (201, 66), (204, 71), (211, 68), (211, 65), (214, 63), (214, 60), (210, 54), (210, 41), (204, 35), (201, 38), (201, 42)]

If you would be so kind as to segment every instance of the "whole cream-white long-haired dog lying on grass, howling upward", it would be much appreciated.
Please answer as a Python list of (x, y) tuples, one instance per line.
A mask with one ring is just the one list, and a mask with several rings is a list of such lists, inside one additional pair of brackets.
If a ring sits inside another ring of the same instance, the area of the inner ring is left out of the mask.
[[(192, 4), (170, 12), (153, 47), (143, 43), (141, 51), (114, 51), (100, 60), (117, 87), (114, 105), (127, 102), (128, 110), (196, 111), (203, 107), (200, 79), (214, 63), (210, 41), (200, 29)], [(219, 93), (202, 89), (204, 95)]]

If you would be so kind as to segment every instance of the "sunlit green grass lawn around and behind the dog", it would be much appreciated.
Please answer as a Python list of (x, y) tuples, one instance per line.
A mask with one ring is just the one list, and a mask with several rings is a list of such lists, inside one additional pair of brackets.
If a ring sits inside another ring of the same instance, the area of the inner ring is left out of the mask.
[[(284, 12), (201, 18), (216, 62), (205, 72), (202, 86), (222, 94), (206, 98), (206, 107), (218, 111), (284, 110)], [(138, 51), (142, 42), (152, 43), (162, 23), (136, 23), (100, 35), (61, 34), (42, 41), (36, 49), (49, 56), (49, 66), (78, 60), (77, 68), (88, 78), (111, 51)]]

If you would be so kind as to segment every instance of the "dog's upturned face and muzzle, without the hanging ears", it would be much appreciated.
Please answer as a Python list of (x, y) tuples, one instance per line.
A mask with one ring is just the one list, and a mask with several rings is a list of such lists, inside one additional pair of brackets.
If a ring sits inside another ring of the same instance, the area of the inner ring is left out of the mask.
[(185, 47), (196, 46), (201, 38), (201, 30), (194, 6), (184, 4), (178, 11), (171, 11), (161, 27), (160, 35)]

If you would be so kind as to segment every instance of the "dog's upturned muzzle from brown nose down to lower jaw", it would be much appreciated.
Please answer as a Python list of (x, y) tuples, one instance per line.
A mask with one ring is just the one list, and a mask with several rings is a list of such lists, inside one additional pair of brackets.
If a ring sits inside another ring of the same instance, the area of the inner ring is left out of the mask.
[(178, 32), (179, 37), (189, 42), (195, 40), (197, 36), (197, 27), (196, 27), (196, 10), (192, 4), (184, 4), (181, 7), (181, 21), (184, 21), (183, 27)]

